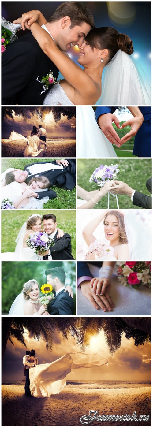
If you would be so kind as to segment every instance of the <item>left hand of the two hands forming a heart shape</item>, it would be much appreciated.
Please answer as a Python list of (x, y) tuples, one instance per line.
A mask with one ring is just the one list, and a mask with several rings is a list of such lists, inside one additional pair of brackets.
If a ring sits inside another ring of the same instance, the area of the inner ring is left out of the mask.
[(115, 146), (120, 147), (120, 137), (114, 130), (112, 122), (114, 122), (117, 128), (120, 129), (120, 122), (115, 116), (115, 114), (105, 113), (101, 114), (98, 118), (99, 126), (103, 134), (105, 134), (105, 137), (107, 137), (108, 141), (110, 141), (111, 144), (114, 143)]

